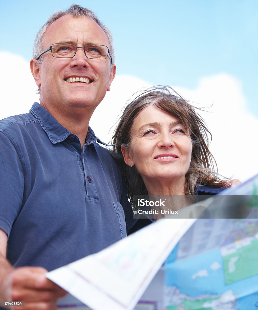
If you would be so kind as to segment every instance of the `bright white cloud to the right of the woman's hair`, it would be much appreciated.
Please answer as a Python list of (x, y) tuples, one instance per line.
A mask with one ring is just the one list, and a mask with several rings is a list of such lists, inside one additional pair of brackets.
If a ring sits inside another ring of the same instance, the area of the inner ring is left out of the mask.
[(223, 73), (201, 79), (195, 90), (176, 89), (196, 106), (212, 105), (200, 114), (212, 132), (210, 150), (219, 172), (242, 181), (255, 175), (258, 119), (247, 110), (241, 83)]

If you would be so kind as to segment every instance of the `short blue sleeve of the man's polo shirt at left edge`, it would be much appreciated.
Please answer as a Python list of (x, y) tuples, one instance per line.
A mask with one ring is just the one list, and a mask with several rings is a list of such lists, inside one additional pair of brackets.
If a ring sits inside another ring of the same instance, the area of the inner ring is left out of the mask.
[(0, 228), (8, 237), (22, 207), (24, 169), (18, 145), (0, 132)]

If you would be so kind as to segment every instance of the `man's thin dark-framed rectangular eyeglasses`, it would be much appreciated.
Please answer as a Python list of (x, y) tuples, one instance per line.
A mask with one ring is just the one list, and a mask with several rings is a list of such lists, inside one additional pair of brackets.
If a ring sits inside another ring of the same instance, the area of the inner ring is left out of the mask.
[(45, 51), (41, 52), (37, 60), (41, 55), (51, 50), (52, 56), (58, 57), (58, 58), (72, 58), (75, 56), (77, 52), (77, 48), (83, 48), (85, 56), (89, 59), (107, 59), (107, 56), (109, 55), (111, 58), (112, 63), (112, 57), (109, 51), (109, 48), (105, 45), (85, 45), (85, 47), (77, 47), (76, 45), (70, 44), (70, 43), (55, 43), (52, 44), (49, 48), (47, 48)]

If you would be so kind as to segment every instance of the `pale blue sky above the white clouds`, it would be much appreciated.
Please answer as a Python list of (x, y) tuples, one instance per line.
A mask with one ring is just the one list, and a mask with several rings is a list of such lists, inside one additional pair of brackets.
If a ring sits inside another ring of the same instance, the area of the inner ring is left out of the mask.
[[(202, 77), (227, 73), (240, 81), (248, 110), (258, 116), (258, 1), (75, 3), (93, 10), (111, 29), (117, 74), (137, 76), (151, 85), (194, 89)], [(30, 60), (38, 29), (52, 12), (71, 4), (3, 2), (0, 51)]]

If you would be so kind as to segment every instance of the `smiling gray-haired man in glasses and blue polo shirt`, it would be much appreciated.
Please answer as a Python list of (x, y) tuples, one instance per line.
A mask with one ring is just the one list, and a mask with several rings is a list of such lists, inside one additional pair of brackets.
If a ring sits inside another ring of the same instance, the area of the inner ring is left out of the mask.
[(65, 294), (46, 270), (120, 240), (134, 220), (120, 169), (88, 127), (116, 73), (109, 30), (72, 5), (42, 27), (33, 57), (40, 104), (0, 122), (0, 300), (36, 310)]

